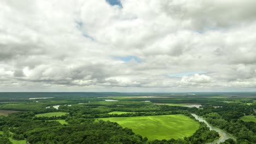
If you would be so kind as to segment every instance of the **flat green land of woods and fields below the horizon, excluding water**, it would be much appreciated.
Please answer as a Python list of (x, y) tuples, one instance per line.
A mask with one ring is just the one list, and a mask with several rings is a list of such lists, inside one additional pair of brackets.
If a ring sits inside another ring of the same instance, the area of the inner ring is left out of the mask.
[(256, 143), (256, 93), (0, 93), (0, 101), (5, 144), (197, 144), (225, 138), (191, 113), (233, 135), (225, 144)]

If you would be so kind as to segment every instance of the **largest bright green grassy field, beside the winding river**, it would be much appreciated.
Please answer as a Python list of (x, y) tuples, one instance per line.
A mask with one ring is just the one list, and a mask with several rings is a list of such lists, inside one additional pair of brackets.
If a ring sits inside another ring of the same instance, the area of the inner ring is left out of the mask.
[(199, 123), (184, 115), (110, 117), (103, 121), (117, 122), (122, 127), (131, 128), (136, 134), (147, 136), (149, 140), (169, 140), (191, 136), (199, 128)]

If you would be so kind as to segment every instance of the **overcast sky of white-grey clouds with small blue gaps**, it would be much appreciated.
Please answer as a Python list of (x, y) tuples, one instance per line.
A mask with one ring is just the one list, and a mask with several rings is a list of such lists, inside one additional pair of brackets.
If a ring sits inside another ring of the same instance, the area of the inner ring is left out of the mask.
[(0, 91), (256, 91), (255, 0), (1, 0)]

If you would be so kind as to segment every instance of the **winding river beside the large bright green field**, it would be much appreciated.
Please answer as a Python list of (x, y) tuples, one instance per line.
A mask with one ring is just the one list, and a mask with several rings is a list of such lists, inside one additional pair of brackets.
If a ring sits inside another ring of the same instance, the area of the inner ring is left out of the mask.
[(225, 140), (227, 139), (233, 139), (233, 140), (236, 140), (236, 137), (235, 136), (232, 136), (230, 135), (229, 133), (227, 133), (226, 131), (222, 130), (222, 129), (219, 129), (217, 127), (213, 127), (211, 124), (209, 124), (208, 122), (205, 121), (205, 119), (203, 119), (202, 117), (200, 116), (197, 116), (196, 114), (194, 113), (191, 113), (192, 116), (195, 117), (195, 119), (197, 119), (199, 122), (204, 122), (207, 124), (207, 126), (210, 128), (210, 130), (215, 130), (219, 133), (220, 135), (220, 139), (219, 140), (216, 140), (216, 141), (213, 141), (211, 143), (220, 143), (220, 142), (224, 142)]

